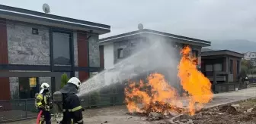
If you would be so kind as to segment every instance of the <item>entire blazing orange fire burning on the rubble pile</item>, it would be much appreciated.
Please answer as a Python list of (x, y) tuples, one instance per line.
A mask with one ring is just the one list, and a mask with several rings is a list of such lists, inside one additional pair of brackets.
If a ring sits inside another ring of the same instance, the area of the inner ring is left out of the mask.
[[(126, 107), (130, 113), (189, 113), (201, 109), (203, 104), (213, 98), (210, 80), (197, 70), (195, 58), (190, 55), (190, 48), (181, 50), (178, 65), (178, 77), (186, 94), (179, 95), (161, 73), (152, 73), (147, 83), (130, 82), (125, 88)], [(188, 101), (184, 107), (184, 101)]]

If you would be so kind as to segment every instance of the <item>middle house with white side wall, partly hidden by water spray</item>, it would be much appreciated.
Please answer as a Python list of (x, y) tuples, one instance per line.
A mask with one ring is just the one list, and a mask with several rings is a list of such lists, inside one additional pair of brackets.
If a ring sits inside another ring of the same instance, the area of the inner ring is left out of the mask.
[(198, 58), (200, 68), (201, 48), (210, 46), (210, 42), (140, 29), (101, 39), (100, 45), (100, 51), (104, 51), (101, 64), (107, 72), (104, 76), (105, 83), (126, 83), (127, 80), (137, 80), (141, 77), (146, 79), (150, 73), (158, 72), (162, 73), (172, 86), (181, 89), (177, 76), (181, 48), (190, 46), (191, 54)]

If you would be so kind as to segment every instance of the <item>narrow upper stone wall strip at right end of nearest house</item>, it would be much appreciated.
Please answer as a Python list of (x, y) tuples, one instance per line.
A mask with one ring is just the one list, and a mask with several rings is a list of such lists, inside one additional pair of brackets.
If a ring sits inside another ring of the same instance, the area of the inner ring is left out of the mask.
[(93, 35), (89, 39), (89, 66), (100, 67), (100, 48), (98, 35)]

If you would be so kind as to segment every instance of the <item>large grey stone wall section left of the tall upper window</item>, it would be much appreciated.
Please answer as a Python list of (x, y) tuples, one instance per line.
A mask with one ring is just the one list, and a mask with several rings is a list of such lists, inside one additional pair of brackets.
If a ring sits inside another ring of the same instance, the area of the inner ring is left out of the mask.
[[(7, 22), (9, 64), (50, 65), (50, 36), (45, 26)], [(38, 35), (32, 34), (38, 29)]]

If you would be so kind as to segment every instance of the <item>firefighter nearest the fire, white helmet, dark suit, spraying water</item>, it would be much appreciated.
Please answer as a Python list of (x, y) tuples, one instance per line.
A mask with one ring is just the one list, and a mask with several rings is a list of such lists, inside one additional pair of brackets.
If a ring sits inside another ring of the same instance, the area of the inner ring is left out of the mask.
[(72, 77), (68, 83), (60, 89), (63, 96), (63, 119), (62, 124), (83, 124), (82, 106), (76, 95), (80, 88), (81, 82), (78, 78)]

